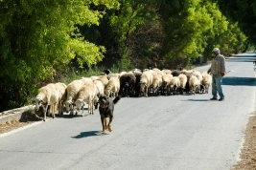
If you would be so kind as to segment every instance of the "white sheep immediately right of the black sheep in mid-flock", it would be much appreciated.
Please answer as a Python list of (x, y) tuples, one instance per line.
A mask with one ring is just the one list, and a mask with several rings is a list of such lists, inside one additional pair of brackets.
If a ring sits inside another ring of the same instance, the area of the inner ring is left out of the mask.
[(143, 72), (139, 84), (140, 91), (144, 93), (144, 96), (148, 96), (152, 84), (152, 74), (150, 71)]

